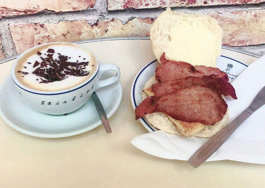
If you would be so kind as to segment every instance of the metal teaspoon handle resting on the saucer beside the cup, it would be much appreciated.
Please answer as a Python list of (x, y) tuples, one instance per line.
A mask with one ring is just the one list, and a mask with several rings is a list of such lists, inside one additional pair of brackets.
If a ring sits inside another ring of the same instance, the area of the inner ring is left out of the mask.
[(92, 93), (92, 98), (93, 98), (94, 104), (96, 106), (96, 111), (98, 111), (99, 117), (102, 121), (103, 126), (105, 127), (106, 132), (111, 133), (112, 131), (111, 131), (111, 128), (109, 126), (108, 118), (107, 118), (105, 110), (104, 110), (104, 108), (103, 108), (103, 106), (99, 100), (99, 97), (96, 95), (96, 92)]

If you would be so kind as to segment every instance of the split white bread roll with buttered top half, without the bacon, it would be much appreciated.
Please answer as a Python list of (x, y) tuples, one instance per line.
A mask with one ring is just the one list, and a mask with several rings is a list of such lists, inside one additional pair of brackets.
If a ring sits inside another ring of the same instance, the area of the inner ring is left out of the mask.
[[(151, 26), (150, 38), (158, 62), (165, 52), (168, 60), (183, 61), (193, 66), (216, 67), (216, 57), (221, 55), (222, 30), (217, 20), (210, 16), (176, 13), (167, 8)], [(142, 100), (154, 95), (149, 88), (153, 83), (157, 83), (155, 77), (145, 84)], [(176, 120), (162, 112), (146, 114), (145, 118), (154, 127), (168, 133), (212, 137), (227, 125), (229, 110), (227, 109), (223, 119), (214, 125)]]

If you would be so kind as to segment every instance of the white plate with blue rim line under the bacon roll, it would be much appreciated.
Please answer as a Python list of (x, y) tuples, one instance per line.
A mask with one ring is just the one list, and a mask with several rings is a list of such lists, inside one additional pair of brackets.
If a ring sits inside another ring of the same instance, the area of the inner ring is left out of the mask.
[[(236, 77), (245, 69), (247, 65), (243, 64), (242, 62), (236, 61), (231, 57), (226, 57), (221, 55), (216, 60), (217, 68), (226, 72), (229, 77), (229, 82), (232, 82)], [(155, 75), (156, 67), (159, 66), (157, 60), (154, 60), (148, 64), (146, 64), (135, 76), (133, 80), (133, 84), (131, 87), (131, 102), (133, 105), (133, 109), (142, 102), (142, 94), (141, 91), (145, 86), (145, 83)], [(143, 126), (149, 132), (157, 131), (158, 129), (152, 126), (147, 122), (147, 120), (143, 117), (139, 119)]]

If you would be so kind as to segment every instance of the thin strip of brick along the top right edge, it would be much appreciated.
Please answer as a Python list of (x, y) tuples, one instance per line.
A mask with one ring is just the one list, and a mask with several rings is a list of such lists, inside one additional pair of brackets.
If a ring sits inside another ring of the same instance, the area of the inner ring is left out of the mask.
[(256, 4), (265, 0), (107, 0), (108, 10)]

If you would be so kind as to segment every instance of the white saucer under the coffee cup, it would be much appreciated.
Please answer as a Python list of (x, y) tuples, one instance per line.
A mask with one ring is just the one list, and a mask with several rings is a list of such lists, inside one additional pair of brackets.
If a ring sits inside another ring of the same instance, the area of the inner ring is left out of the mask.
[[(113, 74), (112, 71), (107, 71), (102, 78)], [(107, 118), (110, 118), (122, 99), (120, 80), (97, 90), (96, 94)], [(12, 128), (27, 135), (43, 138), (69, 137), (85, 133), (102, 124), (92, 97), (80, 110), (65, 116), (48, 115), (33, 109), (16, 91), (10, 75), (0, 87), (0, 98), (0, 116)]]

